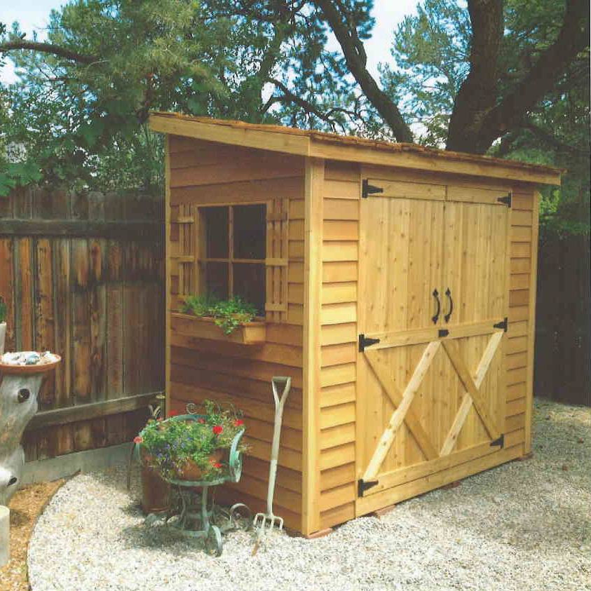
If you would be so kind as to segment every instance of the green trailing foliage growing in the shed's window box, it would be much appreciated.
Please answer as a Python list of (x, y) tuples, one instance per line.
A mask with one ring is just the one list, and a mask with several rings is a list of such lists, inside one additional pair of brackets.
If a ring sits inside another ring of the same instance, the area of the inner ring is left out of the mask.
[(223, 300), (212, 295), (187, 296), (181, 311), (185, 314), (213, 318), (224, 334), (231, 334), (240, 325), (251, 322), (257, 315), (257, 308), (239, 296)]

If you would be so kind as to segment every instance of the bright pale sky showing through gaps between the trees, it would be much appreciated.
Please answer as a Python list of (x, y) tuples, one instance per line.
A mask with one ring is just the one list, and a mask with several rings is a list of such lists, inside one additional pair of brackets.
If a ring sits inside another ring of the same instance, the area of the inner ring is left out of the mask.
[[(390, 45), (395, 27), (405, 17), (414, 12), (417, 0), (375, 0), (372, 15), (376, 19), (372, 39), (365, 41), (367, 53), (367, 66), (369, 72), (379, 79), (379, 62), (389, 62)], [(60, 8), (64, 2), (60, 0), (28, 0), (22, 3), (15, 2), (12, 6), (6, 6), (9, 0), (1, 0), (0, 22), (11, 27), (17, 20), (21, 29), (32, 37), (34, 31), (43, 39), (43, 29), (47, 26), (49, 13), (52, 8)], [(330, 48), (338, 48), (335, 39), (330, 41)], [(6, 60), (4, 68), (0, 69), (0, 80), (4, 83), (15, 81), (14, 68), (10, 60)]]

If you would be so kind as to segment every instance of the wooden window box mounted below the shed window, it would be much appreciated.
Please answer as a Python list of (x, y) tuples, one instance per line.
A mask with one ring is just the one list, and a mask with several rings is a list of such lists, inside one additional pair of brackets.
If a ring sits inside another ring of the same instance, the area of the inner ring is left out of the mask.
[(261, 345), (266, 341), (266, 324), (264, 320), (246, 322), (233, 330), (231, 334), (224, 334), (224, 331), (215, 324), (213, 318), (172, 312), (170, 328), (173, 334), (182, 334), (197, 339), (224, 341), (226, 343)]

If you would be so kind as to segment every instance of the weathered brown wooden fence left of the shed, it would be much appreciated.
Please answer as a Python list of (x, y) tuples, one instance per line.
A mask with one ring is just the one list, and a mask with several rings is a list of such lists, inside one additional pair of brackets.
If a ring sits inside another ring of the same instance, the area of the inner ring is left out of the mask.
[(27, 460), (129, 441), (163, 390), (163, 200), (21, 189), (0, 197), (6, 350), (62, 364), (25, 434)]

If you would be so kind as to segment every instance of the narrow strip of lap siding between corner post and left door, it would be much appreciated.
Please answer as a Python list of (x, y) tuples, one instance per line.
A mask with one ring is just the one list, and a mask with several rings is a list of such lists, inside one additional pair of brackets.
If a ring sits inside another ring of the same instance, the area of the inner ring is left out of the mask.
[(360, 171), (328, 162), (320, 292), (320, 527), (355, 517)]

